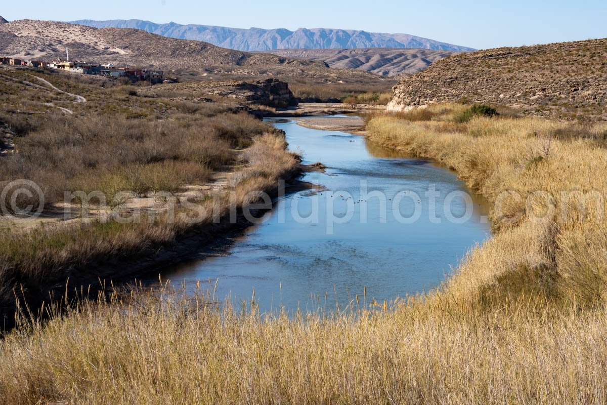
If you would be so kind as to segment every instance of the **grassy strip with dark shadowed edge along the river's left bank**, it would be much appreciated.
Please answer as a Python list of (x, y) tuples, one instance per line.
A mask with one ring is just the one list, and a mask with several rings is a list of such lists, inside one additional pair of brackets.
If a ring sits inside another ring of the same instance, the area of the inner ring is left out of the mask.
[[(225, 185), (169, 196), (154, 211), (127, 206), (105, 218), (72, 219), (55, 226), (33, 223), (5, 231), (0, 249), (4, 327), (12, 327), (19, 307), (37, 311), (49, 296), (61, 299), (68, 280), (76, 295), (89, 286), (95, 296), (105, 280), (132, 281), (251, 225), (243, 210), (261, 202), (260, 193), (276, 196), (279, 181), (288, 182), (301, 171), (299, 160), (285, 147), (279, 134), (258, 137), (243, 151), (247, 163), (231, 173)], [(255, 214), (259, 208), (249, 210), (249, 216)], [(37, 276), (41, 271), (45, 277)]]

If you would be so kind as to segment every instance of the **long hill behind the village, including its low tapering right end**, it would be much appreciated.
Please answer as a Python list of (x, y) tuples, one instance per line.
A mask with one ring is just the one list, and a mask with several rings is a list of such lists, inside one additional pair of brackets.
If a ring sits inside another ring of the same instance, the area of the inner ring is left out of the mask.
[(158, 69), (195, 70), (197, 80), (310, 78), (315, 83), (378, 82), (367, 72), (330, 69), (310, 61), (269, 53), (224, 49), (202, 41), (166, 38), (136, 29), (92, 27), (66, 22), (19, 20), (0, 24), (0, 55), (25, 59), (70, 58)]

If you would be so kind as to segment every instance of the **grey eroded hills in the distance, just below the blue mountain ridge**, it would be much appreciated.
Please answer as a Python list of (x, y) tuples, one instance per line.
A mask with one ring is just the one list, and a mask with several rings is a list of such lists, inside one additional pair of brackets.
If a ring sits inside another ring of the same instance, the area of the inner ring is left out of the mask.
[(359, 69), (382, 76), (412, 75), (439, 59), (455, 55), (452, 50), (361, 48), (277, 49), (274, 55), (324, 61), (339, 69)]

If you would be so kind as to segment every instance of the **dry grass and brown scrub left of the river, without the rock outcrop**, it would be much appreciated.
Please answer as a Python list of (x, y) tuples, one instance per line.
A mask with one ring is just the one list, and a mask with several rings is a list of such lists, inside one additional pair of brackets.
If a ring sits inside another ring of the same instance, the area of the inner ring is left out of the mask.
[[(32, 75), (83, 94), (87, 101), (61, 101), (49, 89), (32, 86)], [(15, 313), (13, 288), (22, 285), (24, 293), (19, 295), (38, 305), (48, 297), (47, 291), (63, 284), (67, 277), (95, 280), (108, 271), (120, 276), (124, 270), (107, 267), (108, 261), (153, 254), (194, 229), (204, 234), (212, 228), (207, 225), (215, 222), (212, 215), (217, 209), (211, 206), (211, 199), (205, 200), (209, 196), (200, 197), (205, 214), (195, 223), (187, 219), (192, 214), (191, 205), (188, 208), (178, 197), (174, 198), (177, 220), (170, 220), (164, 212), (168, 208), (154, 205), (143, 209), (143, 219), (135, 223), (118, 221), (115, 216), (131, 212), (125, 205), (133, 196), (124, 192), (154, 197), (156, 203), (158, 192), (178, 192), (185, 186), (197, 189), (210, 182), (215, 171), (236, 170), (243, 165), (236, 161), (244, 155), (249, 162), (244, 162), (245, 168), (231, 184), (236, 199), (215, 199), (220, 207), (217, 216), (223, 218), (231, 205), (239, 209), (256, 202), (260, 192), (273, 191), (279, 179), (291, 177), (299, 168), (297, 159), (285, 151), (282, 134), (245, 112), (237, 112), (233, 105), (141, 100), (128, 95), (129, 87), (105, 89), (103, 81), (88, 83), (83, 77), (80, 83), (66, 77), (31, 69), (0, 72), (0, 86), (14, 90), (15, 97), (12, 93), (0, 95), (7, 104), (30, 102), (35, 95), (45, 97), (31, 101), (40, 114), (7, 110), (0, 115), (2, 129), (15, 135), (16, 146), (15, 153), (0, 158), (0, 188), (13, 180), (27, 179), (44, 194), (39, 225), (15, 225), (2, 218), (0, 325), (4, 325), (4, 316), (10, 325)], [(73, 114), (57, 114), (44, 104), (47, 101), (64, 102)], [(102, 192), (109, 209), (97, 206), (101, 200), (95, 199), (95, 222), (80, 223), (76, 217), (61, 223), (58, 218), (63, 219), (64, 205), (72, 204), (72, 211), (78, 211), (78, 199), (72, 199), (72, 192), (81, 191)], [(11, 206), (11, 196), (12, 192), (6, 194), (9, 201), (5, 206)], [(39, 196), (19, 194), (17, 205), (38, 208)], [(53, 219), (52, 225), (44, 225), (45, 217)]]

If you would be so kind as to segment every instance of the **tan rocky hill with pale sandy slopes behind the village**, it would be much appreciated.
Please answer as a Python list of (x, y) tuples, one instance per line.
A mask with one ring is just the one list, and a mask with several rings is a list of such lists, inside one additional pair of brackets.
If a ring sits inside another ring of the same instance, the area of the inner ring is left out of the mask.
[(77, 59), (146, 63), (166, 67), (316, 65), (267, 53), (223, 49), (202, 41), (166, 38), (135, 29), (95, 29), (63, 22), (19, 20), (0, 26), (0, 52), (18, 56), (64, 56)]

